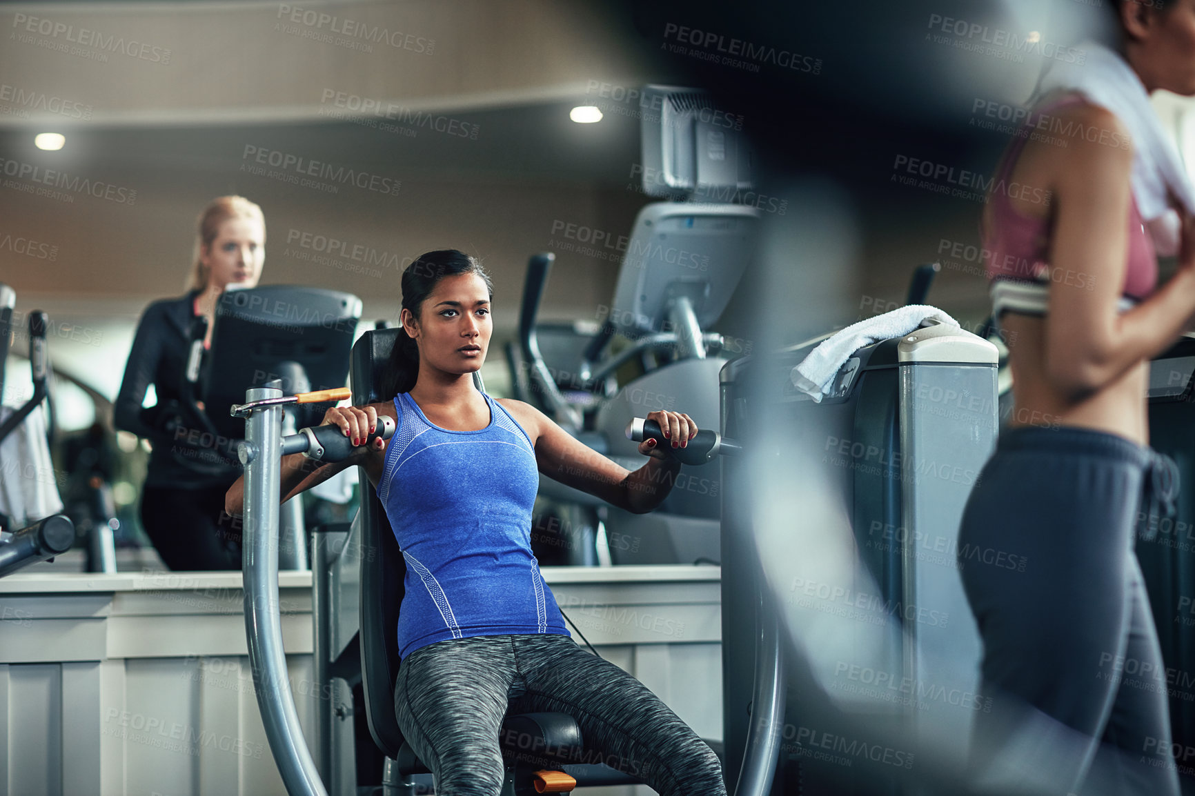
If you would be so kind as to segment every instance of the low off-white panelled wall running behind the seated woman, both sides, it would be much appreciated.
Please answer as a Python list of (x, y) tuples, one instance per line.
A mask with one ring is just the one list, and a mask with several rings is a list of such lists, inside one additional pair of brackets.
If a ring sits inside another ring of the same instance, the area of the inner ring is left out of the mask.
[[(324, 693), (311, 659), (310, 577), (282, 572), (280, 595), (308, 743)], [(10, 617), (0, 622), (0, 796), (284, 796), (253, 692), (239, 580), (122, 572), (0, 581)], [(546, 568), (545, 581), (572, 620), (592, 625), (582, 632), (603, 657), (701, 737), (721, 740), (716, 568)], [(84, 632), (71, 623), (90, 624)]]

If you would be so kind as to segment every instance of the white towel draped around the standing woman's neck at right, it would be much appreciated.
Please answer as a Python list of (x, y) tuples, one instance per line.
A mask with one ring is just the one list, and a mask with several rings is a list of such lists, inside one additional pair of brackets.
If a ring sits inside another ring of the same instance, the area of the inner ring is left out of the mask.
[(1171, 197), (1178, 201), (1179, 209), (1195, 215), (1195, 188), (1182, 159), (1162, 129), (1145, 85), (1124, 57), (1097, 42), (1083, 42), (1078, 49), (1086, 53), (1084, 63), (1053, 61), (1038, 84), (1037, 98), (1074, 91), (1124, 123), (1133, 136), (1133, 198), (1158, 253), (1176, 255), (1181, 221), (1171, 208)]

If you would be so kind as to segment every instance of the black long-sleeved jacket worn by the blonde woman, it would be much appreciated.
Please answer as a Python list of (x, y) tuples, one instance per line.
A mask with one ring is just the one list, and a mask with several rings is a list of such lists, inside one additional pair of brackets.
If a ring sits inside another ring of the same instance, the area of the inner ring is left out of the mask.
[[(195, 319), (197, 292), (146, 307), (124, 366), (116, 396), (116, 428), (149, 440), (147, 486), (203, 489), (231, 485), (240, 474), (227, 445), (202, 433), (202, 423), (188, 420), (180, 387), (189, 355), (189, 333)], [(146, 390), (154, 386), (158, 403), (142, 409)]]

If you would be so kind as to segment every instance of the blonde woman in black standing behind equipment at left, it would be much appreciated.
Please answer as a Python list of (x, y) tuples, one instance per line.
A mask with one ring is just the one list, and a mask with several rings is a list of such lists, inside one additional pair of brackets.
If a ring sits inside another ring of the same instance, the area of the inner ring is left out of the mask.
[[(171, 569), (240, 569), (240, 528), (223, 513), (223, 496), (239, 466), (229, 452), (204, 447), (200, 434), (188, 433), (179, 390), (192, 323), (208, 319), (209, 347), (220, 295), (234, 283), (255, 287), (264, 261), (262, 208), (241, 196), (215, 198), (200, 214), (186, 294), (151, 304), (137, 324), (115, 421), (153, 445), (141, 522)], [(149, 385), (158, 403), (142, 409)]]

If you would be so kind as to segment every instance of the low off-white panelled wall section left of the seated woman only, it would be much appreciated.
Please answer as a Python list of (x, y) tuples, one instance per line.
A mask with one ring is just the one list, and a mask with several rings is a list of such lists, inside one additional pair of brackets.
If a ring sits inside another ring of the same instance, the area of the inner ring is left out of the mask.
[[(253, 693), (239, 580), (5, 578), (0, 796), (284, 796)], [(310, 575), (282, 583), (292, 687), (310, 734)]]

